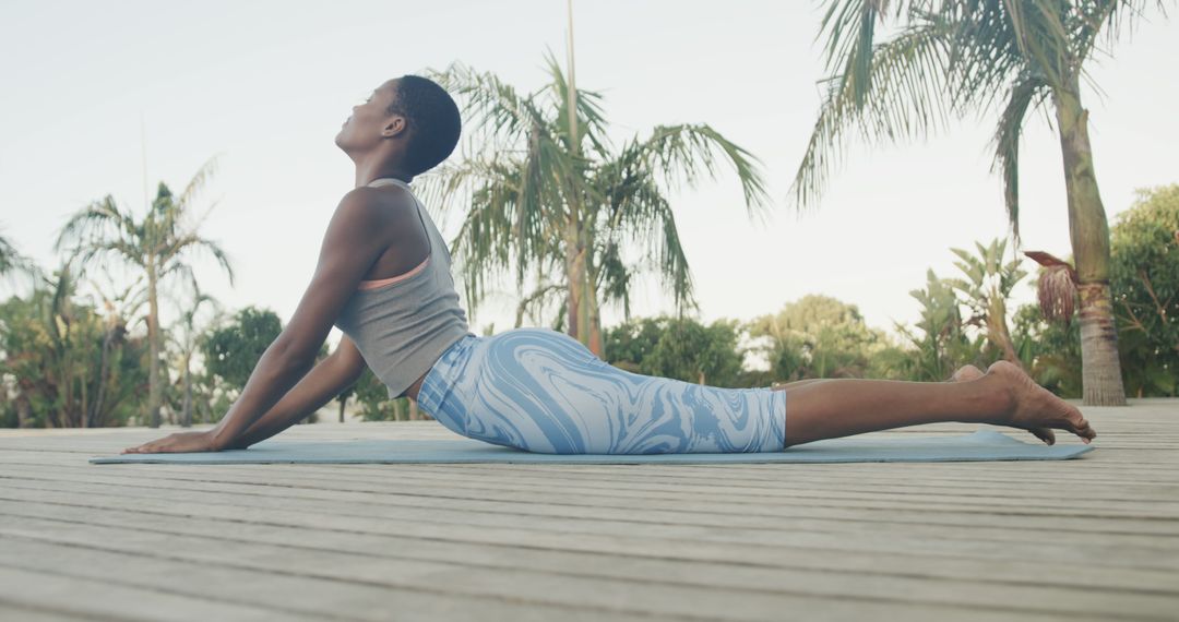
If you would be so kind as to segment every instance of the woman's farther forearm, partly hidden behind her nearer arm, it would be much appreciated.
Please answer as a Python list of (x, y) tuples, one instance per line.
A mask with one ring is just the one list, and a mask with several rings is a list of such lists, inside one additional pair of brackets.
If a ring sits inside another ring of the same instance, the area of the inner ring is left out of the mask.
[(286, 392), (261, 419), (225, 449), (245, 449), (295, 425), (308, 415), (331, 402), (364, 373), (367, 364), (348, 336), (328, 358), (320, 362)]

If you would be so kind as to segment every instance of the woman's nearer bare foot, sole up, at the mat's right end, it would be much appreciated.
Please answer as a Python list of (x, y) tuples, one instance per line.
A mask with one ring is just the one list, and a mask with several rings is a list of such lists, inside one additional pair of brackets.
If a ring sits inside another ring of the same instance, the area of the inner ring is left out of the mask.
[(1073, 432), (1086, 444), (1096, 437), (1098, 434), (1076, 406), (1036, 384), (1017, 365), (1008, 360), (995, 362), (987, 369), (986, 377), (994, 377), (1010, 392), (1012, 405), (1006, 421), (997, 423), (1022, 428), (1049, 445), (1056, 442), (1053, 428)]

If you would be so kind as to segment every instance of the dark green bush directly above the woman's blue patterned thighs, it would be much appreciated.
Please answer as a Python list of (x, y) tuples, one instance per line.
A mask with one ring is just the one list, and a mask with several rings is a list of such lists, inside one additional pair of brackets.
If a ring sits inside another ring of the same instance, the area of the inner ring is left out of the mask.
[(744, 358), (737, 340), (736, 322), (705, 326), (690, 318), (644, 318), (606, 331), (605, 355), (619, 369), (645, 376), (736, 386)]

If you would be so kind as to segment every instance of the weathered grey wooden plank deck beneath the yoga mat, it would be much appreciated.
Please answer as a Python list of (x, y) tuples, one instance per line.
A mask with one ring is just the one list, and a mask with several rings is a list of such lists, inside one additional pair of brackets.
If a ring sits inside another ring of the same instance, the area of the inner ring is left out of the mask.
[(1179, 401), (1132, 404), (1066, 462), (92, 465), (159, 431), (8, 430), (0, 620), (1179, 620)]

